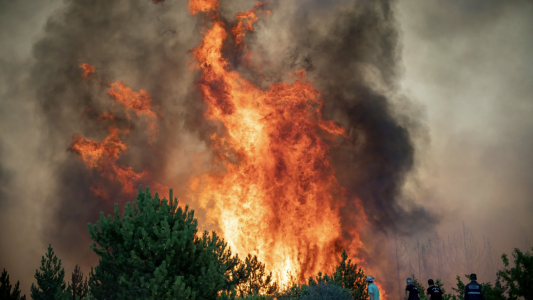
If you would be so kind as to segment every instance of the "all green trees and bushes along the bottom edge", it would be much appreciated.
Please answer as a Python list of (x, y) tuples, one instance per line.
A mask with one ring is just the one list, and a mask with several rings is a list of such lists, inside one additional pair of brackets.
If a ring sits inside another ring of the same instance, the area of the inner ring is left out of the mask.
[[(215, 232), (198, 232), (194, 211), (178, 205), (170, 191), (169, 200), (153, 198), (147, 188), (139, 189), (136, 201), (127, 203), (120, 213), (101, 213), (97, 224), (88, 224), (94, 243), (91, 249), (99, 264), (85, 278), (79, 266), (72, 280), (65, 283), (61, 260), (51, 245), (42, 257), (32, 284), (34, 300), (123, 300), (123, 299), (190, 299), (190, 300), (365, 300), (368, 299), (365, 274), (348, 260), (343, 251), (333, 274), (318, 273), (306, 284), (294, 283), (280, 289), (272, 273), (257, 257), (241, 260), (233, 255)], [(515, 249), (513, 264), (502, 255), (504, 268), (498, 279), (482, 283), (485, 300), (533, 300), (533, 257), (531, 252)], [(412, 276), (413, 284), (425, 300), (426, 289)], [(468, 276), (466, 276), (468, 280)], [(457, 276), (452, 294), (445, 300), (464, 300), (465, 283)], [(4, 270), (0, 277), (0, 299), (26, 300), (20, 295), (19, 283), (13, 286)]]

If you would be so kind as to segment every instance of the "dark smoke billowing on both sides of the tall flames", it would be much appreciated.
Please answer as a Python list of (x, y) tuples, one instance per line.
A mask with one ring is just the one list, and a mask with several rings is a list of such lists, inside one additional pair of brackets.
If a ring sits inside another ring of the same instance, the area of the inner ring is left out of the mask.
[[(94, 140), (106, 136), (109, 124), (97, 121), (108, 110), (104, 82), (123, 80), (151, 94), (161, 112), (160, 131), (147, 146), (146, 124), (119, 115), (115, 125), (130, 130), (125, 142), (131, 146), (119, 163), (149, 171), (153, 180), (174, 187), (178, 194), (187, 183), (191, 157), (206, 150), (205, 140), (215, 130), (203, 118), (205, 107), (188, 67), (187, 51), (199, 42), (202, 21), (189, 16), (185, 4), (71, 1), (52, 14), (45, 36), (34, 45), (35, 63), (26, 84), (35, 92), (40, 117), (37, 157), (50, 162), (49, 189), (39, 197), (46, 208), (39, 233), (67, 262), (67, 270), (75, 263), (88, 270), (95, 262), (88, 247), (87, 222), (94, 222), (100, 211), (109, 213), (113, 202), (132, 199), (119, 196), (118, 187), (111, 192), (113, 201), (95, 197), (90, 187), (99, 174), (66, 151), (75, 133)], [(231, 6), (222, 2), (222, 11), (230, 20), (251, 5), (251, 1)], [(269, 36), (263, 39), (265, 35)], [(283, 40), (273, 48), (265, 43), (272, 38)], [(332, 156), (347, 196), (362, 200), (371, 226), (387, 233), (399, 226), (399, 220), (413, 219), (414, 213), (419, 223), (403, 222), (402, 232), (420, 223), (428, 225), (427, 218), (420, 218), (425, 216), (422, 210), (405, 209), (398, 201), (414, 165), (414, 147), (408, 124), (398, 121), (389, 99), (397, 93), (399, 55), (392, 4), (276, 3), (273, 17), (263, 21), (247, 42), (252, 50), (265, 52), (270, 81), (284, 78), (290, 70), (308, 70), (323, 93), (326, 117), (349, 132), (348, 139), (333, 147)], [(81, 63), (95, 66), (93, 80), (81, 80)], [(369, 80), (370, 74), (375, 82)], [(253, 72), (249, 76), (258, 80)], [(345, 207), (348, 227), (349, 212), (358, 210), (355, 203)], [(364, 242), (368, 251), (377, 245)]]

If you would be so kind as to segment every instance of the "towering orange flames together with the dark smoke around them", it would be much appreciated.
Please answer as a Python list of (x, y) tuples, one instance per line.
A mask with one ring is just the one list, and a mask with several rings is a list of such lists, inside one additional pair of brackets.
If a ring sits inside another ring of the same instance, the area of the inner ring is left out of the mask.
[(80, 220), (139, 185), (174, 188), (279, 286), (333, 272), (343, 250), (379, 277), (387, 234), (433, 226), (402, 195), (424, 129), (395, 110), (393, 3), (340, 1), (321, 24), (320, 1), (125, 2), (74, 1), (35, 46), (43, 155), (67, 150), (56, 243), (88, 241)]

